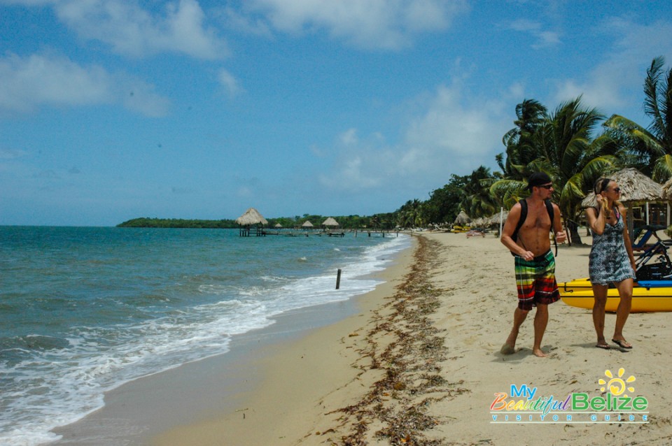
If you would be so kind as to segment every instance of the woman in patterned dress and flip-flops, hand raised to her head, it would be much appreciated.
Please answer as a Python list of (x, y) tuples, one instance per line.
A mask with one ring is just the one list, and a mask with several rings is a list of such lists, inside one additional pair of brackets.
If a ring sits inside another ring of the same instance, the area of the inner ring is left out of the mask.
[(588, 270), (595, 296), (593, 324), (597, 333), (596, 347), (605, 350), (611, 348), (604, 338), (604, 306), (610, 283), (618, 289), (620, 297), (611, 340), (622, 349), (632, 348), (623, 336), (623, 326), (630, 315), (636, 266), (625, 224), (626, 210), (618, 201), (620, 196), (621, 190), (614, 180), (600, 178), (595, 183), (597, 206), (586, 210), (593, 233)]

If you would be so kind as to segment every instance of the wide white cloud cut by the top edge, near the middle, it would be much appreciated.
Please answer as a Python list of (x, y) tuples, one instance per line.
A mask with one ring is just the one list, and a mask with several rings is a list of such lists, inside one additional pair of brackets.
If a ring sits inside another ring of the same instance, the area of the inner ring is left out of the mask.
[(255, 0), (246, 6), (295, 34), (325, 29), (359, 48), (405, 48), (416, 34), (447, 29), (468, 10), (463, 0)]

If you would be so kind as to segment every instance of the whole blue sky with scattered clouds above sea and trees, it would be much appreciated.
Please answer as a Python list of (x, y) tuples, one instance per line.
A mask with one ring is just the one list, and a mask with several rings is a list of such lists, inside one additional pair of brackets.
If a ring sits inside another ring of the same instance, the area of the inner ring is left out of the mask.
[(669, 1), (0, 0), (0, 224), (371, 215), (515, 106), (647, 125)]

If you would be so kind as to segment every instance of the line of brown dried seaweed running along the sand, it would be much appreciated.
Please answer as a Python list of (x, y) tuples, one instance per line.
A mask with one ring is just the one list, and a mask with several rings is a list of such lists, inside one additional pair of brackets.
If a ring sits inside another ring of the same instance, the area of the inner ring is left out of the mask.
[[(447, 420), (429, 415), (428, 408), (468, 391), (460, 387), (463, 382), (448, 382), (440, 373), (448, 348), (430, 318), (440, 307), (442, 294), (430, 283), (430, 273), (441, 246), (424, 237), (418, 240), (411, 271), (397, 292), (374, 311), (367, 346), (353, 364), (362, 373), (377, 370), (382, 377), (357, 403), (329, 412), (341, 414), (339, 426), (324, 433), (342, 433), (341, 438), (328, 438), (329, 445), (362, 446), (384, 440), (392, 445), (443, 445), (440, 438), (428, 438), (428, 431)], [(367, 364), (358, 364), (363, 361)]]

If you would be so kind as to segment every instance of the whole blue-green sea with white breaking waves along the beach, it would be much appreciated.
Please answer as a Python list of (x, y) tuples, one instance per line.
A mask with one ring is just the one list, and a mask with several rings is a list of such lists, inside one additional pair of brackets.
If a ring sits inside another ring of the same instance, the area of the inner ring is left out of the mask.
[(52, 429), (102, 408), (106, 391), (226, 354), (284, 312), (369, 292), (410, 244), (402, 233), (0, 226), (0, 444), (58, 440)]

